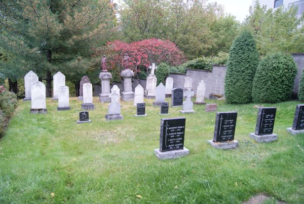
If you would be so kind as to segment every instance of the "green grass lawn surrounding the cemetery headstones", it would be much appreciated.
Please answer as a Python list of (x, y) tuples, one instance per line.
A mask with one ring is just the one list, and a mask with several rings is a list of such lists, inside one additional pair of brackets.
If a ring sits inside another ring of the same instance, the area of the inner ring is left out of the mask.
[[(166, 100), (170, 100), (167, 98)], [(146, 102), (147, 117), (134, 117), (133, 101), (121, 102), (122, 121), (105, 121), (108, 104), (94, 97), (91, 123), (77, 124), (81, 101), (70, 98), (71, 110), (57, 111), (47, 99), (48, 114), (30, 114), (30, 101), (18, 108), (0, 140), (0, 203), (242, 203), (264, 193), (288, 203), (304, 203), (304, 134), (293, 136), (298, 101), (259, 104), (277, 107), (278, 140), (258, 144), (255, 104), (217, 103), (218, 111), (237, 111), (236, 150), (217, 150), (213, 138), (215, 112), (194, 105), (159, 108)], [(161, 118), (186, 117), (184, 146), (190, 153), (158, 160)]]

